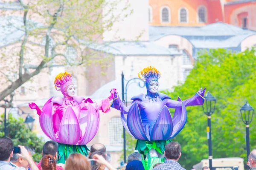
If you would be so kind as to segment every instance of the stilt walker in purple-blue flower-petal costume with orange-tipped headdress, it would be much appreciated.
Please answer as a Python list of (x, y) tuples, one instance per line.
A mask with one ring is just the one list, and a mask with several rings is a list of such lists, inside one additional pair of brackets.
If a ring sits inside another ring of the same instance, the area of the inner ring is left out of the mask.
[[(204, 104), (202, 88), (191, 98), (177, 101), (158, 92), (160, 72), (154, 67), (144, 68), (139, 78), (146, 83), (147, 94), (131, 98), (133, 102), (125, 106), (116, 94), (112, 107), (121, 111), (122, 124), (127, 132), (137, 140), (136, 149), (144, 156), (145, 169), (153, 169), (154, 164), (164, 161), (164, 147), (171, 142), (186, 124), (186, 106)], [(172, 118), (169, 108), (175, 108)], [(127, 114), (127, 119), (125, 118)]]

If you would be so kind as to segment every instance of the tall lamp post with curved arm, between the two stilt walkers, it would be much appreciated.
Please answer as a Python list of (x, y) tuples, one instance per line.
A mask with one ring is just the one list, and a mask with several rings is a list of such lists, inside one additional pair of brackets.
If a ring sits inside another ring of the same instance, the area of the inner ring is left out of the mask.
[[(126, 84), (124, 83), (124, 80), (125, 80), (125, 76), (122, 72), (122, 101), (124, 101), (127, 98), (127, 89), (129, 87), (128, 85), (130, 85), (130, 83), (137, 83), (140, 88), (145, 87), (145, 82), (140, 78), (129, 79)], [(138, 81), (136, 82), (136, 80), (138, 80)], [(140, 82), (143, 82), (143, 85), (141, 85)], [(125, 105), (127, 106), (127, 100), (125, 101)], [(124, 136), (124, 162), (126, 163), (125, 127), (123, 127), (123, 136)]]

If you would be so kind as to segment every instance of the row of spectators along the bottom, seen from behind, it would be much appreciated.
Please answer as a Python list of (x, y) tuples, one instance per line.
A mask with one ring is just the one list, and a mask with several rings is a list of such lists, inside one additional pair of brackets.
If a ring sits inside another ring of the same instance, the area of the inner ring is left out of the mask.
[[(9, 138), (0, 139), (0, 170), (117, 170), (111, 165), (111, 154), (106, 152), (104, 144), (96, 143), (90, 147), (88, 158), (80, 153), (72, 153), (65, 164), (58, 164), (58, 143), (48, 141), (42, 150), (42, 159), (37, 164), (33, 161), (34, 150), (20, 146), (20, 153), (14, 153), (13, 142)], [(185, 170), (178, 160), (181, 156), (181, 146), (177, 142), (170, 142), (165, 146), (164, 163), (154, 164), (153, 170)], [(126, 167), (119, 170), (145, 170), (140, 153), (128, 155)], [(256, 170), (256, 150), (248, 156), (247, 165), (250, 170)], [(195, 169), (191, 169), (195, 170)], [(209, 170), (203, 167), (202, 170)]]

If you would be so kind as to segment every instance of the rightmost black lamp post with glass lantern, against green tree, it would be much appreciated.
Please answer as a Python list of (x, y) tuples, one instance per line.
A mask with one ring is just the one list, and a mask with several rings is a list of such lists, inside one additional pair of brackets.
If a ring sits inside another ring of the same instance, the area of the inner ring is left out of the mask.
[(250, 138), (249, 138), (249, 124), (253, 120), (253, 112), (254, 108), (249, 105), (248, 102), (246, 102), (240, 109), (242, 121), (245, 124), (246, 127), (246, 149), (247, 149), (247, 158), (250, 154)]

